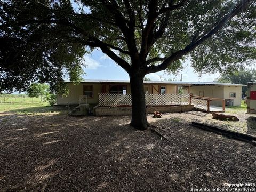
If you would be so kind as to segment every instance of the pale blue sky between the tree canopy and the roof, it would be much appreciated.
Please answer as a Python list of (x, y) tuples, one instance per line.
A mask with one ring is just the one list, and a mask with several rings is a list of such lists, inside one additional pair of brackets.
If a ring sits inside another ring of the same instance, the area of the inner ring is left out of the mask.
[[(126, 71), (118, 66), (113, 60), (111, 60), (106, 54), (102, 53), (101, 50), (95, 49), (91, 54), (84, 56), (85, 65), (84, 71), (86, 75), (83, 75), (84, 79), (100, 79), (100, 80), (129, 80), (129, 75)], [(184, 82), (213, 82), (219, 77), (219, 73), (215, 74), (204, 74), (198, 77), (190, 66), (190, 61), (183, 63), (183, 70), (180, 71), (178, 76), (173, 76), (159, 71), (146, 75), (152, 81), (167, 81), (167, 79), (173, 79), (173, 81), (180, 81), (182, 74), (182, 81)]]

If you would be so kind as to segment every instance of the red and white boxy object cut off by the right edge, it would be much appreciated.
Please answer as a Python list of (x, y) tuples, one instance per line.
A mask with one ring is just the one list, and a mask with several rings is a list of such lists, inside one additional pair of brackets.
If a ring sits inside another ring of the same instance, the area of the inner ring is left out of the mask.
[(256, 114), (256, 82), (248, 82), (247, 113)]

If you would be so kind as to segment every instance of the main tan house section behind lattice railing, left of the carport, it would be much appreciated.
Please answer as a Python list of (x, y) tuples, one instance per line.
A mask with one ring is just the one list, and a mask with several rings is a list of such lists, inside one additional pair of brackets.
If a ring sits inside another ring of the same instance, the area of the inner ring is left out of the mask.
[[(162, 93), (172, 94), (177, 93), (177, 84), (170, 82), (151, 82), (144, 83), (145, 93)], [(67, 97), (57, 95), (57, 105), (78, 104), (83, 95), (87, 97), (87, 103), (97, 104), (99, 93), (113, 93), (113, 94), (129, 94), (131, 93), (131, 86), (129, 81), (103, 81), (103, 80), (86, 80), (79, 85), (73, 85), (67, 82), (69, 87), (69, 94)]]

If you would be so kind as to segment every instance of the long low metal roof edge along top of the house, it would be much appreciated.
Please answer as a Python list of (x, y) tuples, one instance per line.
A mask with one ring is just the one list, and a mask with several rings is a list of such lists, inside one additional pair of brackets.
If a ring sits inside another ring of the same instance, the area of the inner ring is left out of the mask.
[[(71, 83), (71, 82), (69, 82)], [(86, 79), (81, 83), (130, 83), (127, 80), (92, 80)], [(219, 82), (181, 82), (181, 81), (144, 81), (145, 84), (170, 84), (180, 86), (199, 86), (199, 85), (222, 85), (222, 86), (247, 86), (234, 83), (219, 83)]]

